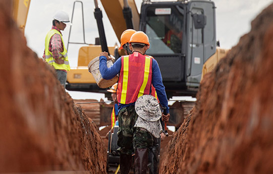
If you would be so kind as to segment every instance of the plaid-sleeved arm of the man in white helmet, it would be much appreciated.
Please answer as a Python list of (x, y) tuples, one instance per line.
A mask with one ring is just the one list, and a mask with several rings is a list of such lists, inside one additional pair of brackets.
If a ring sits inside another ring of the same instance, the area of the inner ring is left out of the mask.
[(65, 63), (65, 61), (63, 59), (59, 59), (59, 54), (61, 52), (63, 52), (62, 43), (63, 43), (62, 38), (59, 34), (54, 34), (50, 38), (52, 57), (55, 59), (55, 62), (57, 64), (64, 64)]

